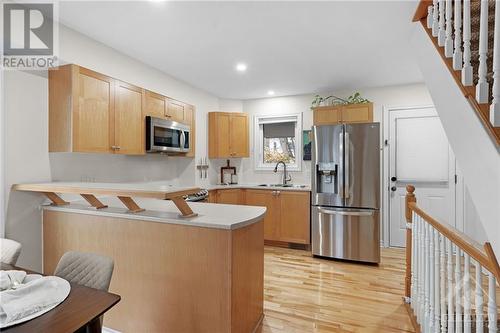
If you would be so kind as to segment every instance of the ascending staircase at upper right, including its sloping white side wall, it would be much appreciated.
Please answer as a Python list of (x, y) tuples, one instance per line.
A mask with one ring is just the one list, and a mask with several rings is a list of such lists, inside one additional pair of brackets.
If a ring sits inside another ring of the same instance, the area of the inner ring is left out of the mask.
[(422, 0), (413, 21), (416, 61), (500, 254), (500, 2)]

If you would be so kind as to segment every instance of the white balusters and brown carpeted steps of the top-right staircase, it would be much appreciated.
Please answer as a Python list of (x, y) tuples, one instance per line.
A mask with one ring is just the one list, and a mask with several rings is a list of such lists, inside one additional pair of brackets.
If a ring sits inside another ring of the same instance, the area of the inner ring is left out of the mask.
[[(496, 7), (500, 5), (495, 6), (495, 0), (421, 1), (413, 20), (422, 23), (486, 131), (500, 146), (500, 8), (497, 13)], [(496, 29), (495, 16), (499, 17)]]

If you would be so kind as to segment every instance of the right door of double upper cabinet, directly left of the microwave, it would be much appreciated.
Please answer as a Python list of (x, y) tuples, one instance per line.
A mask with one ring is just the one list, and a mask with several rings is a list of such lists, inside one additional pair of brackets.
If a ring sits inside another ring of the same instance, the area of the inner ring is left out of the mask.
[(115, 86), (115, 154), (145, 154), (142, 103), (144, 90), (116, 81)]

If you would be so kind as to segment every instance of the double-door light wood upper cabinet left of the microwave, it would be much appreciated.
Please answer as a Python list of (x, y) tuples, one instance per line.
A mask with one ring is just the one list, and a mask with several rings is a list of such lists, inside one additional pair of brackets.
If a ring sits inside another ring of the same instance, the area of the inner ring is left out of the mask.
[(144, 154), (143, 89), (76, 65), (49, 71), (49, 151)]

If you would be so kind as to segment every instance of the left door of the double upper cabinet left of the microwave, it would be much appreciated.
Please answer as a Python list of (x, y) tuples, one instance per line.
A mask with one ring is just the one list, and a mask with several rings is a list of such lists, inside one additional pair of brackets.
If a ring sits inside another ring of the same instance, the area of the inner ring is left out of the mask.
[(79, 68), (73, 114), (73, 151), (112, 152), (114, 145), (114, 80)]

